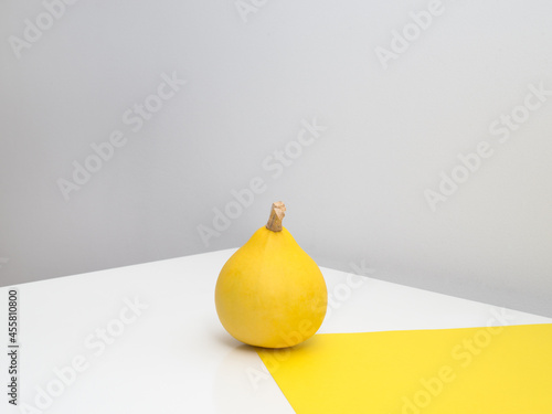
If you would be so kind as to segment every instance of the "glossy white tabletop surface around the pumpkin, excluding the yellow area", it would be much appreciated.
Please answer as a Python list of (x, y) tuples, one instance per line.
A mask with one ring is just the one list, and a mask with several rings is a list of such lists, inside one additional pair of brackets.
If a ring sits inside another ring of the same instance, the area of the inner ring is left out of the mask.
[[(14, 286), (20, 307), (19, 403), (28, 411), (10, 405), (2, 392), (1, 412), (294, 413), (256, 352), (230, 337), (216, 317), (214, 286), (234, 251)], [(319, 332), (552, 322), (321, 270), (330, 305)], [(0, 288), (1, 343), (8, 343), (9, 289)], [(8, 378), (7, 344), (0, 355), (1, 378)]]

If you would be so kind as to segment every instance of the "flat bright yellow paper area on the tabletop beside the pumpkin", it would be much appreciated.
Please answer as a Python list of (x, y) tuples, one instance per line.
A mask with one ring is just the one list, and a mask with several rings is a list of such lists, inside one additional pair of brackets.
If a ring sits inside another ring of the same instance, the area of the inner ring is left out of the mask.
[(552, 325), (326, 333), (257, 352), (298, 414), (552, 413)]

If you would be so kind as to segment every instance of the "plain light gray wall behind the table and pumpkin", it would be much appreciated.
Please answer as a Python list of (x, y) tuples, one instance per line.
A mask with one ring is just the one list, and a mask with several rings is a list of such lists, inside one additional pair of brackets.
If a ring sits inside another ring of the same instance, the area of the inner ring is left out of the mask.
[(236, 247), (283, 200), (322, 266), (552, 316), (551, 13), (4, 1), (1, 285)]

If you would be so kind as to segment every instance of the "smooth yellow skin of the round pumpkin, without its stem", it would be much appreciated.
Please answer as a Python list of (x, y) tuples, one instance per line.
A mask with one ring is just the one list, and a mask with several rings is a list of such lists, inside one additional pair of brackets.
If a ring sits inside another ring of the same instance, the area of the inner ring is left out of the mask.
[(307, 340), (322, 325), (327, 304), (322, 273), (285, 227), (257, 230), (216, 282), (222, 325), (251, 346), (286, 348)]

